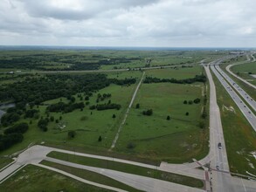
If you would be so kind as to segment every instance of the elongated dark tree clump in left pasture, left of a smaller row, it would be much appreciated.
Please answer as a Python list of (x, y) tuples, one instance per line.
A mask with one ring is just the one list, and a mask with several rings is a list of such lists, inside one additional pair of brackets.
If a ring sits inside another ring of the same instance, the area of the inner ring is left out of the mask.
[(46, 107), (46, 110), (49, 112), (64, 112), (64, 113), (70, 113), (73, 112), (75, 109), (83, 109), (85, 107), (84, 102), (80, 103), (64, 103), (64, 102), (59, 102), (56, 104), (52, 104), (50, 106)]

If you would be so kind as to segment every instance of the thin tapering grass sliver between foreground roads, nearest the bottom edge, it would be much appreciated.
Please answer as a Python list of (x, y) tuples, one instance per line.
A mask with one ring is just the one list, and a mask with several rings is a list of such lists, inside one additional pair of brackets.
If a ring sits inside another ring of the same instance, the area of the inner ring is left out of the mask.
[(66, 173), (76, 175), (80, 178), (83, 178), (90, 182), (97, 182), (103, 185), (111, 186), (118, 189), (123, 189), (126, 191), (141, 191), (139, 189), (135, 189), (133, 187), (130, 187), (122, 182), (118, 182), (114, 179), (111, 179), (105, 175), (100, 175), (97, 173), (94, 173), (93, 171), (88, 171), (81, 168), (73, 168), (65, 165), (61, 165), (59, 163), (51, 162), (51, 161), (41, 161), (40, 164), (52, 167), (52, 168), (58, 168), (59, 170), (65, 171)]

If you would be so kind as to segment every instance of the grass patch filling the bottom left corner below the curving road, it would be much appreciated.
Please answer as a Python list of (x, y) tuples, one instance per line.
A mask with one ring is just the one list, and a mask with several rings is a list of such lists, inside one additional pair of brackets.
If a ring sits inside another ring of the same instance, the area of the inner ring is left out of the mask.
[(66, 175), (27, 165), (12, 175), (5, 182), (1, 183), (0, 191), (28, 192), (28, 191), (90, 191), (107, 192), (108, 189), (101, 189), (83, 182), (78, 182)]

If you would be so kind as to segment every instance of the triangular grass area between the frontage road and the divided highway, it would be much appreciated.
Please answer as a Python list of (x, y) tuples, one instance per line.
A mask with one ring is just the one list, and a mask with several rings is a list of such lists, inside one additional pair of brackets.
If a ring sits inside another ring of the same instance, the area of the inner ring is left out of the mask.
[[(256, 151), (256, 133), (213, 73), (212, 77), (218, 95), (230, 170), (242, 175), (247, 175), (246, 171), (256, 175), (256, 160), (252, 154)], [(223, 110), (223, 106), (232, 106), (235, 113)]]

